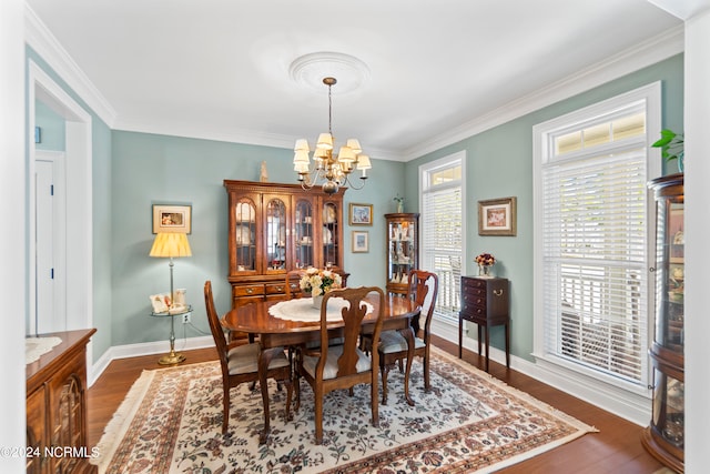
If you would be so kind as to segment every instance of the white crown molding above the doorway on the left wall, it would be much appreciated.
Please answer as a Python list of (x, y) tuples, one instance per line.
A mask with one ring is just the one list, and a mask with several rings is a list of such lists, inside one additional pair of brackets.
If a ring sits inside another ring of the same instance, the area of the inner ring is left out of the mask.
[(116, 117), (113, 107), (27, 3), (24, 3), (24, 42), (52, 68), (82, 102), (109, 128), (112, 128)]

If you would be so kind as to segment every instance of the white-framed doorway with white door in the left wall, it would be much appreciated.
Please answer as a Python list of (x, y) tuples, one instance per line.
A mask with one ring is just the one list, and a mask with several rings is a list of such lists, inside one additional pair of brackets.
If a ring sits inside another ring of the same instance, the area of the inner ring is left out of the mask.
[[(91, 114), (31, 60), (28, 99), (29, 130), (32, 131), (28, 137), (31, 177), (29, 235), (32, 238), (29, 242), (30, 311), (26, 322), (27, 334), (91, 327)], [(36, 149), (33, 110), (38, 100), (65, 121), (64, 150), (61, 159), (58, 154), (48, 155), (47, 152)], [(48, 203), (44, 202), (45, 194), (38, 194), (39, 186), (45, 186), (48, 177), (51, 174), (55, 178), (58, 173), (62, 175), (63, 181), (63, 202), (59, 208), (55, 200)], [(51, 218), (48, 216), (50, 214)], [(48, 222), (50, 219), (51, 225)], [(50, 270), (43, 266), (48, 261), (52, 263)], [(48, 271), (52, 276), (51, 269), (54, 269), (54, 282), (47, 281)], [(57, 278), (61, 280), (61, 284), (57, 284)], [(48, 310), (48, 305), (52, 307)]]

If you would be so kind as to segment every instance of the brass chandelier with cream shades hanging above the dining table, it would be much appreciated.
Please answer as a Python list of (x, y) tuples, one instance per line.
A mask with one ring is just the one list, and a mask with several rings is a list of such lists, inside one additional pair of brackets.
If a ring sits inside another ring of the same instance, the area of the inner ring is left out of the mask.
[[(323, 83), (328, 87), (328, 131), (321, 133), (313, 151), (313, 163), (308, 153), (311, 148), (306, 139), (296, 140), (294, 148), (293, 165), (298, 173), (298, 181), (304, 190), (310, 190), (315, 185), (323, 184), (323, 192), (326, 194), (336, 193), (341, 186), (349, 184), (353, 189), (362, 189), (367, 179), (367, 170), (372, 164), (369, 157), (363, 154), (363, 150), (357, 139), (348, 139), (334, 155), (333, 137), (333, 99), (331, 88), (337, 83), (335, 78), (323, 78)], [(361, 184), (355, 185), (351, 173), (361, 170)]]

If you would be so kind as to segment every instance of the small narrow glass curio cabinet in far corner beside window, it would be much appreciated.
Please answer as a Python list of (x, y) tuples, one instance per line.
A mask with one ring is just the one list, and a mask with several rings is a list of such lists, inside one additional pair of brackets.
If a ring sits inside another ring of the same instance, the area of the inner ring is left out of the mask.
[(387, 292), (407, 294), (409, 270), (418, 269), (419, 214), (385, 214), (387, 220)]

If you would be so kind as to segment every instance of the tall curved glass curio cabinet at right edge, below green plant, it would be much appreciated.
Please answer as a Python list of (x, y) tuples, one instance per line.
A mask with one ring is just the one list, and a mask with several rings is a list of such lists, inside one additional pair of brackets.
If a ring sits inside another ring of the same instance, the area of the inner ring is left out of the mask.
[(684, 465), (684, 238), (683, 174), (649, 183), (656, 195), (656, 324), (650, 361), (653, 367), (651, 423), (643, 446), (670, 468)]

